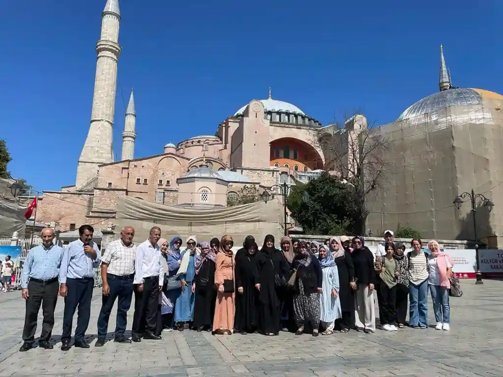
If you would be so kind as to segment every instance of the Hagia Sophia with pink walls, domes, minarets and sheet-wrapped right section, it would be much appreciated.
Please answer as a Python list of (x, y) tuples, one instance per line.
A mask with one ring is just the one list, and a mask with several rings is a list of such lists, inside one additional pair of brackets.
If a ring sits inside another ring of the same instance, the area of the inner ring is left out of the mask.
[[(271, 90), (268, 98), (229, 111), (214, 135), (159, 146), (157, 154), (140, 158), (134, 155), (136, 109), (131, 92), (122, 156), (114, 161), (120, 22), (118, 0), (108, 0), (96, 47), (91, 124), (75, 184), (44, 191), (37, 221), (56, 222), (62, 231), (102, 220), (106, 224), (113, 222), (125, 196), (185, 208), (226, 207), (237, 203), (245, 186), (262, 192), (283, 182), (307, 182), (325, 170), (330, 152), (316, 140), (340, 131), (273, 98)], [(474, 189), (495, 204), (492, 212), (481, 208), (476, 216), (479, 237), (497, 245), (503, 234), (502, 106), (503, 96), (495, 92), (455, 87), (442, 51), (439, 91), (378, 129), (390, 142), (385, 153), (390, 168), (385, 190), (368, 202), (369, 231), (410, 226), (424, 237), (473, 239), (469, 203), (458, 210), (452, 202)], [(358, 119), (346, 124), (346, 137), (367, 127), (364, 116)], [(291, 227), (295, 221), (288, 216), (287, 223)]]

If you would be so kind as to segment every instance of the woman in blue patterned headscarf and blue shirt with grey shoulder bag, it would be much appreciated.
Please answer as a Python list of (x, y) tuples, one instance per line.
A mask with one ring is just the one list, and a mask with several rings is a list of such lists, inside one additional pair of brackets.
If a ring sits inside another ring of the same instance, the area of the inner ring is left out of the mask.
[[(164, 257), (167, 264), (167, 279), (164, 279), (164, 281), (166, 282), (164, 295), (173, 306), (175, 306), (178, 297), (182, 293), (177, 280), (177, 273), (180, 268), (180, 263), (182, 263), (180, 246), (182, 246), (182, 239), (180, 237), (173, 237), (167, 250), (165, 252), (161, 252), (161, 256)], [(166, 325), (163, 326), (164, 331), (172, 330), (171, 327), (173, 326), (173, 317), (173, 310), (171, 311), (171, 313), (167, 313), (165, 317), (163, 316), (162, 322)]]

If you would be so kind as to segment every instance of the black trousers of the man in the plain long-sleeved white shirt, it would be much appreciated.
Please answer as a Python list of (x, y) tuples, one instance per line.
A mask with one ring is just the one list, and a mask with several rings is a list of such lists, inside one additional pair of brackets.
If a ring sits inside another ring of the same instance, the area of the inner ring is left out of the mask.
[(134, 287), (133, 335), (154, 333), (159, 311), (159, 276), (143, 279), (143, 292)]

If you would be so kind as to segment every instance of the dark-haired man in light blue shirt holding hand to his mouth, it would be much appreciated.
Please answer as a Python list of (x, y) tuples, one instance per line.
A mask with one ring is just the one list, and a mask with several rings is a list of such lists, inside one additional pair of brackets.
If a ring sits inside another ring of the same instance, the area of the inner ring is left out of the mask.
[(75, 347), (89, 348), (84, 340), (91, 317), (94, 269), (100, 264), (100, 249), (93, 242), (94, 228), (82, 225), (78, 228), (79, 239), (64, 249), (59, 271), (59, 294), (64, 297), (63, 332), (61, 351), (70, 349), (73, 315), (78, 307)]

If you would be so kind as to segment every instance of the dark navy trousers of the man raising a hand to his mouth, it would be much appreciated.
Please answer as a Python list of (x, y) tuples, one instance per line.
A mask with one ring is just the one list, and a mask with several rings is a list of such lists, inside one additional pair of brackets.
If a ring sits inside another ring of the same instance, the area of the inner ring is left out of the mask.
[(67, 293), (64, 298), (63, 332), (61, 340), (71, 339), (73, 315), (78, 308), (77, 327), (75, 328), (75, 341), (84, 340), (91, 316), (91, 300), (93, 299), (94, 279), (83, 277), (79, 279), (66, 279)]

